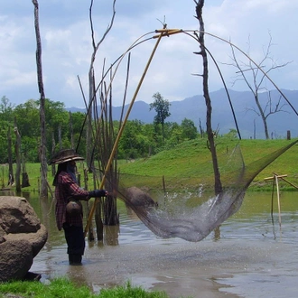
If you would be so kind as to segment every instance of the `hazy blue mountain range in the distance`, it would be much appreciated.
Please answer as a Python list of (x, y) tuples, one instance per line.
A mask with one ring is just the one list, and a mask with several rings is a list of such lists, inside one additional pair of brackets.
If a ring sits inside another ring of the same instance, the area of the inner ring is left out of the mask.
[[(284, 138), (288, 130), (291, 131), (292, 137), (298, 136), (298, 116), (293, 108), (298, 110), (298, 90), (282, 89), (284, 96), (288, 99), (291, 105), (281, 97), (277, 90), (270, 91), (271, 110), (274, 111), (280, 99), (279, 107), (282, 107), (281, 112), (269, 115), (267, 117), (268, 131), (273, 138)], [(264, 126), (261, 117), (256, 114), (258, 110), (254, 95), (250, 91), (234, 91), (228, 90), (231, 105), (225, 89), (219, 89), (215, 92), (210, 92), (212, 102), (212, 126), (216, 130), (219, 128), (219, 135), (227, 134), (230, 129), (236, 129), (238, 126), (242, 138), (250, 138), (256, 135), (256, 138), (265, 138)], [(270, 112), (269, 92), (264, 92), (259, 95), (262, 107), (266, 107), (265, 114)], [(129, 104), (125, 107), (125, 113)], [(293, 106), (293, 108), (291, 107)], [(234, 121), (232, 108), (237, 120), (237, 126)], [(113, 107), (113, 119), (119, 119), (122, 107)], [(85, 109), (77, 107), (68, 107), (71, 112), (83, 112)], [(202, 95), (196, 95), (191, 98), (185, 98), (181, 101), (172, 101), (170, 106), (171, 116), (166, 118), (166, 122), (182, 123), (184, 118), (191, 119), (195, 126), (201, 123), (203, 129), (206, 129), (206, 105), (205, 98)], [(149, 104), (144, 101), (135, 101), (135, 104), (130, 112), (130, 120), (140, 120), (144, 123), (153, 123), (156, 112), (149, 110)]]

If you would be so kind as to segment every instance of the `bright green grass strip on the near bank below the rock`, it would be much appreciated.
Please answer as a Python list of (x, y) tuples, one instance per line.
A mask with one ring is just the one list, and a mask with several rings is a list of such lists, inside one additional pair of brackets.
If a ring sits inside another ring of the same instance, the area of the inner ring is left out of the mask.
[[(17, 295), (17, 296), (16, 296)], [(92, 293), (87, 286), (76, 286), (66, 278), (56, 278), (51, 284), (40, 282), (11, 282), (0, 284), (0, 297), (25, 298), (167, 298), (164, 292), (146, 292), (141, 287), (133, 287), (129, 282), (123, 286), (102, 289)]]

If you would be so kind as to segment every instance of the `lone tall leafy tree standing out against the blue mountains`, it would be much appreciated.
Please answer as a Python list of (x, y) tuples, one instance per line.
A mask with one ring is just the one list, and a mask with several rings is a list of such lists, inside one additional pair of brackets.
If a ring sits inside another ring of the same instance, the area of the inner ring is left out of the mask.
[(163, 99), (162, 95), (157, 92), (153, 96), (154, 102), (150, 104), (150, 110), (154, 109), (157, 113), (154, 116), (154, 124), (161, 124), (162, 125), (162, 135), (163, 135), (163, 142), (164, 142), (164, 121), (168, 116), (171, 116), (170, 110), (170, 102), (167, 99)]

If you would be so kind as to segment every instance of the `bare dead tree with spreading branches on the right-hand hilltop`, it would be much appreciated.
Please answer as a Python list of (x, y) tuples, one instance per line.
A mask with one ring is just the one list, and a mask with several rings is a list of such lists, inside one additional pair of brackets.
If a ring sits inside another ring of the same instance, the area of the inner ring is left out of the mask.
[[(273, 43), (272, 43), (272, 37), (270, 33), (269, 33), (269, 36), (270, 36), (269, 42), (266, 48), (264, 49), (264, 57), (261, 59), (260, 62), (257, 63), (257, 67), (251, 60), (249, 60), (248, 62), (239, 61), (237, 59), (237, 55), (234, 50), (234, 47), (232, 46), (231, 46), (231, 50), (232, 50), (231, 59), (233, 62), (225, 63), (237, 68), (237, 77), (232, 82), (232, 86), (234, 86), (238, 81), (244, 81), (247, 84), (247, 87), (253, 93), (256, 107), (248, 107), (247, 111), (252, 111), (257, 116), (261, 117), (266, 139), (269, 139), (268, 124), (267, 124), (268, 116), (272, 116), (275, 113), (279, 113), (279, 112), (286, 112), (284, 110), (284, 106), (286, 106), (286, 104), (283, 103), (282, 96), (279, 97), (277, 102), (275, 102), (276, 100), (273, 100), (271, 96), (271, 92), (265, 88), (265, 79), (266, 79), (265, 74), (268, 75), (271, 71), (281, 69), (290, 63), (290, 62), (287, 62), (284, 64), (278, 64), (272, 58), (270, 52), (271, 52)], [(249, 53), (249, 49), (250, 49), (250, 41), (248, 38), (247, 54)], [(268, 70), (266, 70), (265, 73), (263, 71), (260, 71), (260, 68), (265, 68), (265, 65), (268, 63), (271, 64)], [(267, 100), (265, 104), (262, 104), (261, 98), (260, 98), (260, 92), (264, 90), (267, 91)]]

